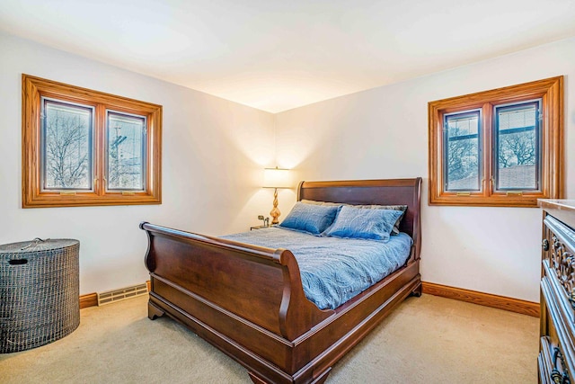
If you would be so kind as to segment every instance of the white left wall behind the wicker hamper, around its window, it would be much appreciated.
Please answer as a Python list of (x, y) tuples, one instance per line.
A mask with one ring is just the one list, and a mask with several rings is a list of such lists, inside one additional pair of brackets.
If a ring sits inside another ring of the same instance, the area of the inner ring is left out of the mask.
[[(164, 106), (162, 205), (22, 210), (22, 73)], [(0, 33), (0, 244), (80, 240), (80, 292), (148, 279), (142, 220), (210, 235), (258, 224), (273, 115)]]

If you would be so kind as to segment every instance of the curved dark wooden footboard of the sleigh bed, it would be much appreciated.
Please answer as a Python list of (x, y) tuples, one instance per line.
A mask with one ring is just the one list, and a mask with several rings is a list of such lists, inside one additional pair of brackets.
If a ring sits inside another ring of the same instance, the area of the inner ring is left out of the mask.
[(291, 342), (335, 313), (305, 298), (288, 250), (146, 222), (140, 228), (149, 240), (152, 317), (165, 312), (252, 369), (271, 362), (295, 371)]

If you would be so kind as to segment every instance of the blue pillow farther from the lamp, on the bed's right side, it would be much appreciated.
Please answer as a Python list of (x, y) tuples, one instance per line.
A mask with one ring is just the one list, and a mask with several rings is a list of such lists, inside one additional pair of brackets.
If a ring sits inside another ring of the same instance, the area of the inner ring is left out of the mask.
[(387, 241), (395, 221), (402, 215), (402, 210), (364, 210), (343, 206), (332, 227), (322, 235)]

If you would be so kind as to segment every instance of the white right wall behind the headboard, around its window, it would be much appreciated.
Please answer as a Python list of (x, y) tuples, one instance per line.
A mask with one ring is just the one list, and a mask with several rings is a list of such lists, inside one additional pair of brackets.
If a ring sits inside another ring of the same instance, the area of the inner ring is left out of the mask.
[(422, 176), (422, 280), (538, 301), (541, 210), (429, 207), (427, 108), (438, 99), (564, 75), (566, 197), (572, 199), (573, 63), (575, 39), (562, 40), (282, 112), (278, 160), (303, 180)]

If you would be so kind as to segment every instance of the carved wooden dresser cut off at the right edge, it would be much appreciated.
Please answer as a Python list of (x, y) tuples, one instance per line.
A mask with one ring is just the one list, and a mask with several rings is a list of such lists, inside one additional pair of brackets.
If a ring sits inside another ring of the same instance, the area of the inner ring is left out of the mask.
[(575, 384), (575, 200), (543, 208), (539, 382)]

